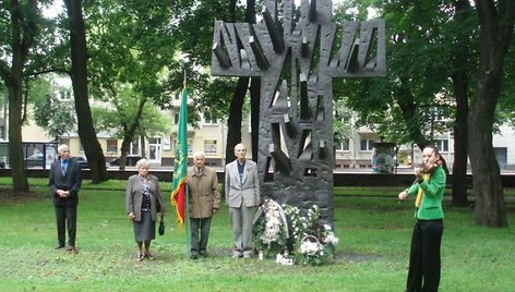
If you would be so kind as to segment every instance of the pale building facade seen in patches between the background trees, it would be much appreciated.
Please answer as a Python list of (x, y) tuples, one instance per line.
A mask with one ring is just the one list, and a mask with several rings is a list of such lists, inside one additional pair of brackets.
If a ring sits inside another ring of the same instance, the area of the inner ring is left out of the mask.
[[(52, 81), (53, 95), (62, 102), (73, 102), (73, 94), (71, 82), (69, 78), (57, 77)], [(7, 93), (3, 94), (4, 99)], [(0, 111), (0, 142), (7, 143), (7, 107)], [(179, 122), (180, 99), (176, 97), (172, 100), (172, 110), (166, 111), (169, 118), (171, 130), (170, 133), (136, 138), (132, 142), (129, 157), (139, 158), (146, 157), (153, 166), (172, 168), (175, 162), (175, 144), (177, 139), (177, 127)], [(31, 115), (29, 115), (31, 117)], [(249, 117), (250, 118), (250, 117)], [(251, 129), (250, 119), (245, 120), (242, 125), (242, 139), (248, 146), (248, 155), (251, 151)], [(28, 119), (22, 130), (22, 135), (26, 142), (26, 156), (33, 155), (35, 151), (44, 150), (48, 147), (48, 143), (56, 143), (43, 129)], [(106, 161), (112, 161), (120, 156), (121, 139), (113, 137), (110, 133), (98, 133), (98, 142), (104, 149)], [(451, 132), (434, 135), (436, 146), (441, 155), (447, 161), (447, 166), (452, 169), (454, 160), (454, 141)], [(227, 139), (227, 122), (215, 121), (202, 117), (196, 129), (188, 127), (188, 153), (191, 158), (195, 151), (205, 153), (206, 165), (215, 168), (223, 168), (225, 161), (225, 149)], [(350, 137), (344, 141), (335, 142), (335, 167), (340, 170), (369, 170), (372, 168), (372, 158), (374, 157), (374, 145), (381, 143), (380, 136), (368, 127), (355, 129)], [(59, 137), (58, 143), (70, 145), (72, 156), (85, 156), (80, 137), (76, 132), (68, 133)], [(495, 157), (501, 169), (515, 169), (515, 132), (508, 125), (501, 125), (499, 133), (493, 135), (492, 141)], [(45, 146), (47, 145), (47, 146)], [(0, 147), (0, 162), (8, 160), (5, 154), (7, 147)], [(46, 149), (48, 150), (48, 149)], [(398, 167), (411, 167), (421, 161), (421, 153), (414, 145), (400, 145), (395, 153), (395, 161)]]

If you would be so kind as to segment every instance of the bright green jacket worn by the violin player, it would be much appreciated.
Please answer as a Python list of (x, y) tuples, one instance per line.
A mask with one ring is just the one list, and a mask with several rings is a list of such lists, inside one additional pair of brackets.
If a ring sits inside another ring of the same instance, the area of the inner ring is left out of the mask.
[(438, 167), (429, 180), (414, 183), (408, 190), (410, 196), (417, 197), (419, 187), (422, 188), (422, 202), (415, 211), (415, 217), (422, 220), (443, 219), (442, 200), (445, 192), (446, 174), (443, 168)]

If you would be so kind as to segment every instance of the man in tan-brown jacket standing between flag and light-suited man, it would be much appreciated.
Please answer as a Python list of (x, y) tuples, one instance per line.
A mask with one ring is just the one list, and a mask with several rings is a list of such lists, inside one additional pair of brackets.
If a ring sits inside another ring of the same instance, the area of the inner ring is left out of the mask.
[[(207, 256), (211, 219), (220, 208), (218, 178), (216, 171), (204, 166), (204, 153), (193, 155), (193, 165), (188, 170), (189, 215), (191, 232), (190, 257)], [(199, 238), (199, 230), (201, 235)]]

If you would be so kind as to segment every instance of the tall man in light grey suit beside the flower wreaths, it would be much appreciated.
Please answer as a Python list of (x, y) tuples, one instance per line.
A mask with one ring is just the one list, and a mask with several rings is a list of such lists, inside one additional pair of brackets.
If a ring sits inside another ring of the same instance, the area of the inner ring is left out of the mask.
[(252, 221), (261, 204), (258, 165), (245, 159), (243, 144), (235, 146), (236, 160), (226, 166), (225, 196), (229, 207), (235, 248), (232, 257), (252, 257)]

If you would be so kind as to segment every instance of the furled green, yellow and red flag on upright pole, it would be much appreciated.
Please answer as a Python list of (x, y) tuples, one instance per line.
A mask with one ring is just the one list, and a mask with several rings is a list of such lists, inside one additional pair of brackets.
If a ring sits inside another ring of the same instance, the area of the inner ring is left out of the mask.
[[(184, 83), (185, 84), (185, 83)], [(176, 206), (177, 226), (183, 230), (185, 222), (187, 207), (187, 184), (188, 178), (188, 90), (184, 86), (181, 97), (181, 107), (179, 112), (179, 126), (176, 139), (176, 159), (173, 169), (173, 181), (171, 184), (171, 204)]]

